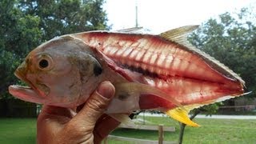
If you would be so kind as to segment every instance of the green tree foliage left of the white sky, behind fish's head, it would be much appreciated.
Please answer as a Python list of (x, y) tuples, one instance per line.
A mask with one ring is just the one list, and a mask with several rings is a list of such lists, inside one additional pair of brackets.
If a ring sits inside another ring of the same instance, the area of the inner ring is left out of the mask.
[(17, 83), (14, 70), (30, 50), (62, 34), (109, 29), (103, 0), (0, 1), (0, 96)]

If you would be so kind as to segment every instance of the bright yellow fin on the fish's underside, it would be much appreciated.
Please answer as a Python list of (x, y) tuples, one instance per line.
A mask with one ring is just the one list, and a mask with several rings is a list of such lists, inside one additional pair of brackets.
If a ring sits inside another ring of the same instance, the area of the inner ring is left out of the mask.
[(166, 114), (169, 115), (171, 118), (176, 119), (178, 122), (186, 124), (187, 126), (199, 126), (197, 123), (190, 120), (187, 110), (183, 110), (179, 107), (172, 110), (167, 110)]

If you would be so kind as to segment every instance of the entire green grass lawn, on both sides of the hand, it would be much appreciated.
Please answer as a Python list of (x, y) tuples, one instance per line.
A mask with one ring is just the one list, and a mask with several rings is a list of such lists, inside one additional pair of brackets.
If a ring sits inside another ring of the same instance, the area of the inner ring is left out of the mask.
[[(166, 132), (166, 141), (178, 141), (178, 122), (170, 118), (146, 117), (147, 121), (165, 126), (175, 126), (175, 132)], [(256, 120), (195, 119), (201, 127), (186, 127), (184, 143), (256, 143)], [(113, 135), (131, 138), (158, 139), (157, 131), (114, 130)], [(35, 143), (35, 118), (0, 118), (0, 143)], [(128, 144), (129, 142), (114, 142)]]

